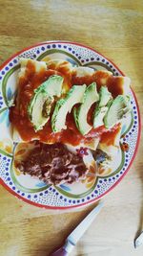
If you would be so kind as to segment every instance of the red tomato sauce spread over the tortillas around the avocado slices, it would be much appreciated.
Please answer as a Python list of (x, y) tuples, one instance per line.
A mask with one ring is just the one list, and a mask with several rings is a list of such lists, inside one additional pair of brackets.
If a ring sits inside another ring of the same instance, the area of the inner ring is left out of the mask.
[[(101, 137), (101, 135), (107, 132), (107, 129), (102, 126), (99, 128), (92, 128), (91, 131), (83, 136), (74, 124), (74, 119), (72, 113), (68, 114), (66, 120), (67, 129), (63, 129), (60, 132), (52, 132), (51, 130), (51, 117), (48, 123), (43, 129), (35, 131), (32, 127), (31, 121), (28, 116), (28, 105), (31, 102), (33, 91), (37, 88), (43, 81), (46, 81), (51, 75), (60, 75), (64, 78), (65, 90), (70, 89), (73, 84), (83, 84), (89, 85), (92, 81), (96, 81), (98, 88), (100, 85), (100, 78), (95, 78), (94, 76), (78, 78), (74, 75), (72, 76), (66, 65), (62, 67), (51, 66), (51, 69), (41, 70), (40, 72), (35, 72), (35, 67), (28, 62), (25, 76), (20, 78), (18, 83), (18, 95), (15, 100), (15, 105), (10, 108), (10, 122), (13, 127), (16, 128), (24, 141), (31, 141), (33, 139), (39, 139), (41, 142), (45, 143), (70, 143), (73, 146), (78, 145), (80, 142), (90, 142), (94, 137)], [(53, 70), (55, 68), (56, 70)], [(110, 84), (110, 82), (109, 82)], [(111, 86), (111, 85), (110, 85)], [(114, 91), (114, 94), (118, 91)], [(92, 125), (92, 112), (95, 105), (92, 105), (88, 113), (88, 122)], [(113, 128), (114, 130), (114, 128)]]

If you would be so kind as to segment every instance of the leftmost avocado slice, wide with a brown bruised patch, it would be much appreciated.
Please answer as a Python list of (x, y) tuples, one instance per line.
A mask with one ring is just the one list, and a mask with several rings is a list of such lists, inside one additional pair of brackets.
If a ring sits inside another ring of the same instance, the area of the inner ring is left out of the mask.
[(53, 96), (61, 95), (63, 80), (63, 77), (51, 76), (34, 90), (28, 113), (35, 131), (42, 129), (48, 122), (54, 102)]

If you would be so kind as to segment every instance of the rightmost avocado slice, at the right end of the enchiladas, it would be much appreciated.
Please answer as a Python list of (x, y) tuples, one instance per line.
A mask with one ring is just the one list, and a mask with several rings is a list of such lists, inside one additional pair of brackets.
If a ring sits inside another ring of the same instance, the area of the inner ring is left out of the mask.
[(122, 118), (126, 117), (132, 110), (130, 105), (130, 97), (124, 95), (118, 95), (113, 101), (112, 105), (108, 109), (105, 117), (104, 124), (106, 128), (112, 128)]

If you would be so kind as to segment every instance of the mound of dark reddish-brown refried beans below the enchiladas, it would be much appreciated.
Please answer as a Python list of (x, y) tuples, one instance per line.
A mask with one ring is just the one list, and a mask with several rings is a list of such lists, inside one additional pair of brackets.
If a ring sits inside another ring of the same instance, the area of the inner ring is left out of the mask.
[(82, 180), (88, 172), (83, 158), (68, 151), (66, 146), (60, 143), (39, 143), (26, 159), (15, 161), (15, 166), (23, 174), (36, 176), (54, 185)]

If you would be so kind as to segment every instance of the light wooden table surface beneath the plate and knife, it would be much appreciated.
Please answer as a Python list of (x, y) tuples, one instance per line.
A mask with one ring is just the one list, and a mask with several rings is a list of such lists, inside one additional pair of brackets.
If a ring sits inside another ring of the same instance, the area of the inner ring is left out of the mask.
[[(0, 63), (33, 43), (65, 39), (91, 46), (132, 78), (143, 114), (143, 1), (0, 0)], [(143, 198), (143, 140), (133, 166), (72, 252), (141, 256), (133, 239)], [(46, 256), (94, 205), (63, 213), (36, 208), (0, 187), (0, 256)], [(142, 212), (143, 216), (143, 212)]]

